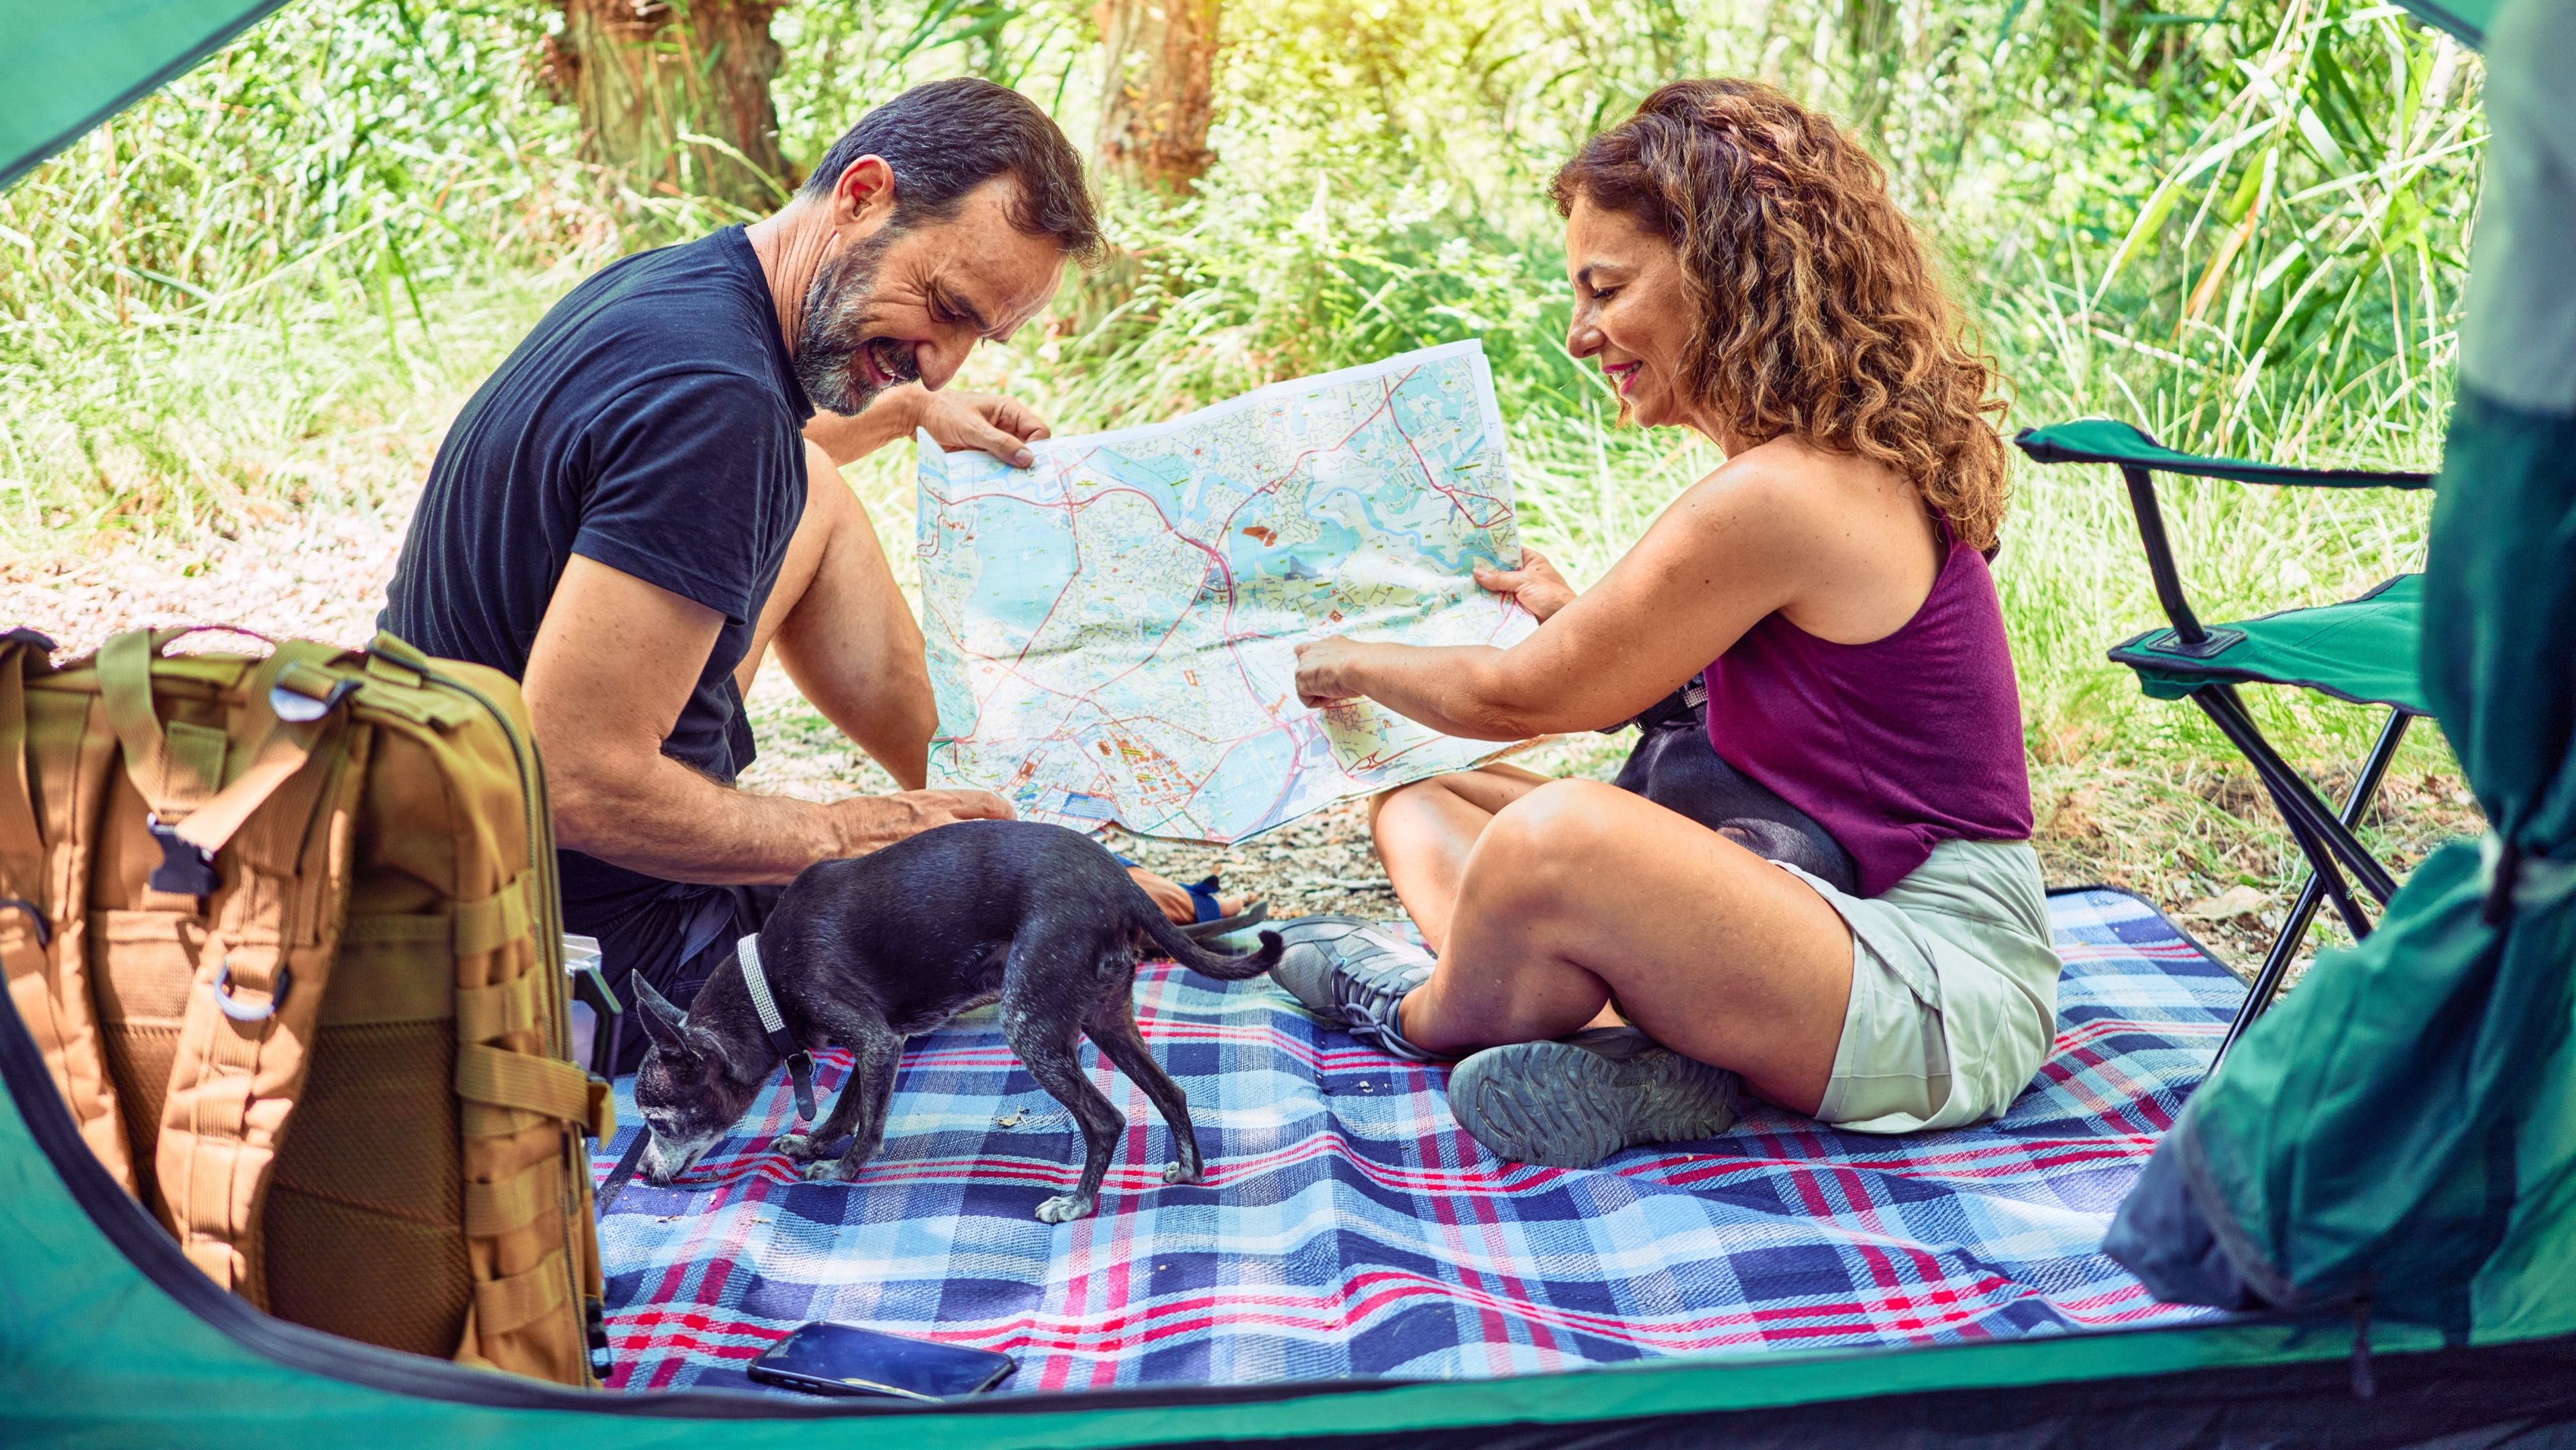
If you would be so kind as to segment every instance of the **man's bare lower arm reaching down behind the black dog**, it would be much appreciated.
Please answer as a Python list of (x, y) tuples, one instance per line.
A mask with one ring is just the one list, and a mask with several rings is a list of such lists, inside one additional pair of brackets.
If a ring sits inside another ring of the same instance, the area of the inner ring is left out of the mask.
[(1010, 816), (987, 791), (814, 804), (719, 786), (662, 755), (724, 616), (580, 554), (528, 652), (523, 693), (546, 757), (556, 845), (708, 886), (791, 881), (961, 819)]

